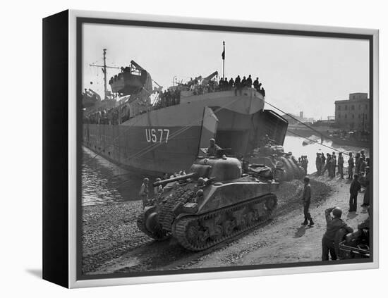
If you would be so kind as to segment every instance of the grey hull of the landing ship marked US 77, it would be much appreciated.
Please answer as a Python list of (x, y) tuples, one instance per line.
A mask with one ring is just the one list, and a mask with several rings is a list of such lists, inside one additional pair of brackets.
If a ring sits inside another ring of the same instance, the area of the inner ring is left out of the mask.
[[(260, 97), (260, 98), (257, 98)], [(83, 124), (83, 145), (140, 175), (188, 170), (201, 148), (217, 144), (243, 156), (257, 146), (264, 101), (254, 89), (187, 97), (121, 125)]]

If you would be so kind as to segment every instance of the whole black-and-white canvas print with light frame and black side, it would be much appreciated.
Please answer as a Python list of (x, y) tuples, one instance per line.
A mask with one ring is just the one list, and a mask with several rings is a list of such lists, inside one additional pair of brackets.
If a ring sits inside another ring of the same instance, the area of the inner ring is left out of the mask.
[(378, 30), (43, 20), (43, 277), (378, 266)]

